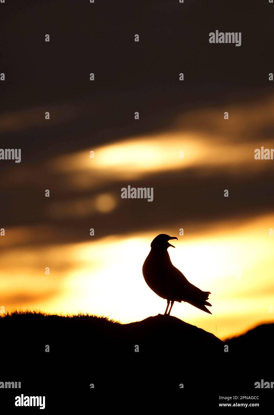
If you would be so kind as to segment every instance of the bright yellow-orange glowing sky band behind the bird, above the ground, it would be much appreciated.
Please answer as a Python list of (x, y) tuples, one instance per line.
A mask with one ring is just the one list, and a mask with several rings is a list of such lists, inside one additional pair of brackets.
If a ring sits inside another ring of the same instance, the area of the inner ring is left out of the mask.
[[(254, 322), (272, 320), (273, 276), (269, 270), (274, 265), (274, 239), (268, 229), (273, 223), (274, 215), (263, 216), (243, 223), (236, 231), (223, 223), (202, 232), (196, 229), (191, 237), (178, 237), (176, 249), (169, 249), (172, 262), (194, 285), (211, 291), (213, 315), (203, 315), (187, 303), (175, 303), (172, 314), (213, 334), (217, 330), (222, 338), (240, 333)], [(33, 294), (34, 300), (22, 302), (23, 307), (51, 313), (84, 311), (121, 322), (162, 313), (165, 300), (146, 286), (141, 271), (150, 241), (160, 232), (155, 229), (54, 249), (12, 249), (1, 255), (2, 296)], [(10, 267), (9, 278), (5, 278), (5, 264), (14, 257), (20, 266)], [(41, 258), (45, 266), (51, 264), (49, 275), (40, 268)], [(68, 269), (60, 271), (64, 264)], [(47, 292), (50, 298), (40, 298)], [(15, 307), (11, 300), (7, 309)]]

